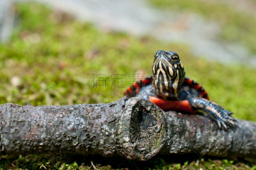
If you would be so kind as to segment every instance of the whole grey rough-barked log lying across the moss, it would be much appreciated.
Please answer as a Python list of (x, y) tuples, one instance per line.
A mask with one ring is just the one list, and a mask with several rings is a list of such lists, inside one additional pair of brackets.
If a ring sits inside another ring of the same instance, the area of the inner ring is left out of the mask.
[(197, 153), (256, 158), (256, 123), (219, 130), (203, 115), (164, 112), (140, 98), (71, 106), (0, 105), (0, 155), (77, 153), (148, 160)]

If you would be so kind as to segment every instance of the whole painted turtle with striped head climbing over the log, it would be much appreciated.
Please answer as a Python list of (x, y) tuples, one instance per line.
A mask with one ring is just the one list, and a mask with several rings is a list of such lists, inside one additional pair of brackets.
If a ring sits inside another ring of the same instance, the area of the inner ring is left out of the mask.
[(233, 127), (236, 122), (233, 112), (210, 101), (202, 85), (185, 77), (184, 66), (176, 52), (157, 51), (152, 71), (153, 75), (128, 87), (124, 95), (149, 100), (164, 111), (204, 112), (217, 123), (219, 129)]

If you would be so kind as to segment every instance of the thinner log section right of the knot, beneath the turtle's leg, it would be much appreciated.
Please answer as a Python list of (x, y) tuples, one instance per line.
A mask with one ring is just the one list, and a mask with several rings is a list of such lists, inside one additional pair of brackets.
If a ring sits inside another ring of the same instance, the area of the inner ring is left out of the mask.
[(161, 154), (196, 153), (231, 158), (256, 158), (256, 123), (236, 119), (233, 128), (219, 130), (205, 115), (163, 112), (167, 136)]

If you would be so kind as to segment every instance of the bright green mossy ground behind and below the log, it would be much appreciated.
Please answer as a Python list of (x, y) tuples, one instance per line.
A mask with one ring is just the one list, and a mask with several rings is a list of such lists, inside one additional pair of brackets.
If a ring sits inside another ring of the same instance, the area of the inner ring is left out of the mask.
[[(17, 14), (18, 26), (11, 41), (0, 45), (1, 104), (71, 105), (117, 100), (122, 97), (121, 92), (135, 81), (132, 74), (152, 74), (154, 54), (164, 49), (180, 55), (186, 75), (202, 84), (211, 100), (235, 112), (236, 118), (256, 121), (255, 69), (207, 62), (196, 58), (184, 44), (160, 42), (150, 36), (134, 37), (126, 33), (102, 31), (92, 24), (80, 23), (67, 14), (51, 11), (39, 4), (18, 4)], [(105, 75), (97, 75), (92, 82), (93, 74), (100, 73)], [(117, 73), (121, 74), (119, 86), (111, 87), (112, 83), (117, 84)], [(97, 84), (97, 80), (105, 84)], [(99, 91), (103, 91), (102, 95), (92, 95)], [(111, 95), (115, 92), (115, 95)], [(6, 169), (8, 163), (22, 169), (76, 169), (77, 166), (88, 169), (92, 166), (91, 157), (83, 157), (82, 160), (80, 157), (2, 157), (0, 167)], [(207, 161), (204, 161), (195, 158), (188, 159), (187, 163), (184, 158), (182, 161), (170, 160), (174, 159), (154, 158), (144, 164), (136, 162), (136, 165), (140, 165), (141, 169), (147, 164), (150, 167), (146, 167), (151, 169), (180, 169), (187, 166), (221, 169), (224, 165), (237, 166), (231, 160), (206, 158)], [(94, 163), (95, 166), (102, 169), (110, 169), (111, 166), (135, 167), (128, 160), (121, 166), (102, 164), (97, 157), (93, 162), (98, 162)], [(255, 169), (254, 166), (251, 168)]]

